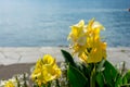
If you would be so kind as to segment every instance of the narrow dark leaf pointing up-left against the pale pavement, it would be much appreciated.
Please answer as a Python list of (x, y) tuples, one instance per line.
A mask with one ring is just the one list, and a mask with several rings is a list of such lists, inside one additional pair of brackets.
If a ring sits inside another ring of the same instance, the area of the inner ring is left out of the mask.
[(61, 50), (66, 63), (69, 63), (73, 66), (76, 66), (73, 57), (65, 50)]

